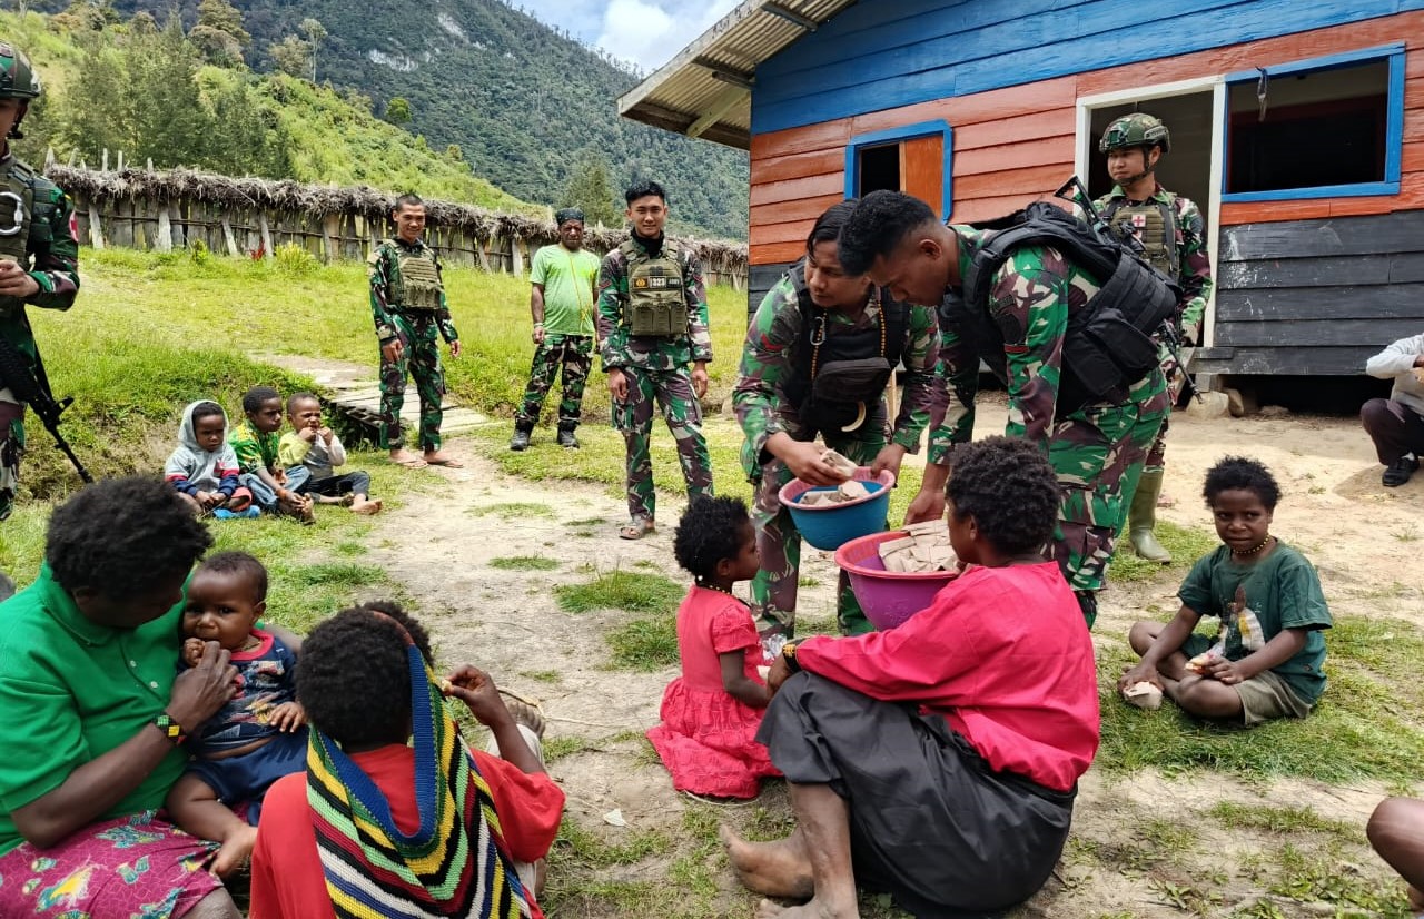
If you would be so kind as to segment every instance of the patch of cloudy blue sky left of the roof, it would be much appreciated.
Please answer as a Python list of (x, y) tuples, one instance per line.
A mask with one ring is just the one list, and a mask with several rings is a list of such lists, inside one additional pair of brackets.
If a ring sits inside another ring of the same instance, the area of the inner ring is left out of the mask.
[(537, 19), (654, 71), (738, 0), (514, 0)]

